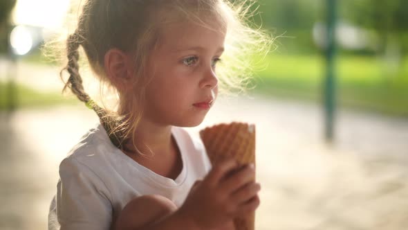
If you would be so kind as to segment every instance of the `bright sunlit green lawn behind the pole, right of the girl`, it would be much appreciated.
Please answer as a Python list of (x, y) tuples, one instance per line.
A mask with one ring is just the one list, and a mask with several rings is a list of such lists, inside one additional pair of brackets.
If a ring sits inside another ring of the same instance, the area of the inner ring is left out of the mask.
[[(324, 59), (319, 55), (269, 55), (268, 66), (254, 77), (254, 92), (322, 101)], [(337, 100), (340, 106), (408, 117), (408, 60), (398, 78), (387, 77), (375, 57), (337, 57)]]

